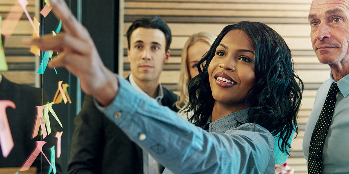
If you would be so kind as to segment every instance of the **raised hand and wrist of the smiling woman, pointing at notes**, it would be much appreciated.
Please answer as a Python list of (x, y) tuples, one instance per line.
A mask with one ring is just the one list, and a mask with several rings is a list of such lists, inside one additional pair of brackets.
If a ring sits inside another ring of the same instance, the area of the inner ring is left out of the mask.
[(96, 97), (102, 105), (109, 105), (118, 91), (116, 75), (103, 65), (87, 29), (77, 21), (65, 1), (50, 0), (50, 5), (54, 15), (62, 20), (65, 32), (24, 43), (37, 45), (43, 51), (58, 51), (59, 57), (55, 56), (48, 66), (65, 67), (80, 78), (85, 93)]

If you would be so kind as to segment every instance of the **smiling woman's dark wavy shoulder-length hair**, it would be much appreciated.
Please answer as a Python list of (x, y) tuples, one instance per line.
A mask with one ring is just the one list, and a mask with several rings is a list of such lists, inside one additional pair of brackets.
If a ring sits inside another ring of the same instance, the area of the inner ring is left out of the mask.
[[(250, 108), (248, 123), (265, 127), (273, 136), (279, 136), (282, 152), (288, 154), (288, 139), (298, 133), (297, 113), (302, 100), (303, 82), (294, 71), (291, 50), (272, 28), (259, 22), (242, 21), (224, 27), (210, 50), (199, 61), (199, 75), (188, 85), (189, 103), (184, 110), (193, 112), (192, 123), (203, 127), (212, 114), (215, 99), (212, 96), (208, 66), (216, 48), (229, 31), (240, 29), (252, 39), (255, 48), (254, 72), (256, 83), (245, 99)], [(205, 64), (203, 64), (206, 61)], [(280, 143), (279, 143), (280, 144)]]

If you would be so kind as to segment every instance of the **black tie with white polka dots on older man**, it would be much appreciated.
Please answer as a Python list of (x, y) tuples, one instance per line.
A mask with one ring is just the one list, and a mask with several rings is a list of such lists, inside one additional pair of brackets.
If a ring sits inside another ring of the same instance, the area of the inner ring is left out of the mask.
[(332, 121), (334, 106), (336, 105), (336, 95), (339, 88), (336, 83), (332, 83), (328, 90), (327, 97), (322, 106), (318, 121), (311, 135), (309, 146), (308, 173), (319, 174), (322, 167), (322, 149), (324, 148), (325, 137)]

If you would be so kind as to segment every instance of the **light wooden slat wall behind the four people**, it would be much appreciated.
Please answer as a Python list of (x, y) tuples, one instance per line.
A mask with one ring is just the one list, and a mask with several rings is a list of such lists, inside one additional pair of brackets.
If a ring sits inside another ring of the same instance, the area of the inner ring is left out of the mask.
[[(307, 173), (302, 151), (304, 127), (313, 107), (319, 86), (329, 77), (328, 65), (320, 64), (312, 50), (307, 16), (311, 0), (125, 0), (126, 33), (140, 17), (160, 16), (172, 31), (171, 57), (160, 81), (177, 90), (180, 54), (187, 38), (198, 32), (218, 35), (224, 26), (241, 20), (258, 21), (279, 32), (292, 50), (296, 72), (305, 83), (302, 109), (298, 116), (299, 133), (292, 142), (288, 164), (295, 173)], [(127, 39), (124, 38), (124, 77), (129, 72)]]

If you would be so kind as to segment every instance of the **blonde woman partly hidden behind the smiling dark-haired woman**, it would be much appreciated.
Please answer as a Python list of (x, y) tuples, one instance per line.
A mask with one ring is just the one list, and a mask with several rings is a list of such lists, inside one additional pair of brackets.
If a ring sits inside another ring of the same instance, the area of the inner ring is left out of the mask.
[[(210, 49), (216, 36), (207, 32), (195, 33), (189, 37), (184, 45), (181, 56), (180, 79), (178, 88), (180, 91), (176, 107), (181, 109), (188, 102), (188, 82), (199, 74), (198, 62)], [(186, 114), (183, 114), (187, 118)]]

